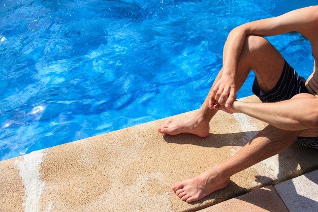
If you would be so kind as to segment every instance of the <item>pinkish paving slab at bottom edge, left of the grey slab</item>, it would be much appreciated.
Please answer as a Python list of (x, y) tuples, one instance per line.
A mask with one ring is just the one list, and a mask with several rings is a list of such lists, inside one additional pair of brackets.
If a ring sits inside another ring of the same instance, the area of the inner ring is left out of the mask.
[(287, 207), (281, 201), (279, 195), (273, 186), (267, 186), (262, 189), (244, 194), (242, 196), (229, 199), (227, 201), (210, 206), (200, 212), (265, 212), (279, 211), (289, 212)]

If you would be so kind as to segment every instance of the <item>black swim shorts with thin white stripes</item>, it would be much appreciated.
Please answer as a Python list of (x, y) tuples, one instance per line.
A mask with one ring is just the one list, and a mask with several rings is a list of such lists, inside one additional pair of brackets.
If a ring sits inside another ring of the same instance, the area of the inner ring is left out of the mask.
[[(263, 94), (257, 78), (255, 78), (253, 82), (252, 92), (258, 96), (262, 102), (279, 102), (291, 99), (297, 94), (309, 94), (308, 89), (305, 87), (305, 82), (305, 78), (299, 76), (285, 60), (281, 76), (271, 92)], [(299, 137), (297, 140), (302, 146), (318, 149), (318, 137)]]

